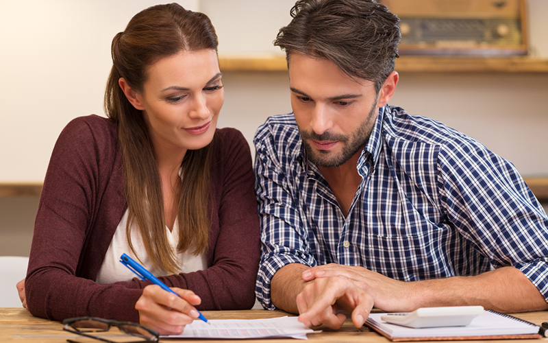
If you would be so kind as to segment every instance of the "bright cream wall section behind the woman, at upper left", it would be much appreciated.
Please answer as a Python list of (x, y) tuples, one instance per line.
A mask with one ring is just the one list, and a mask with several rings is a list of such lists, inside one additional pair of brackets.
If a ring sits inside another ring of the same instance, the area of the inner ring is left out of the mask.
[(0, 182), (41, 182), (66, 123), (103, 115), (112, 38), (157, 3), (0, 0)]

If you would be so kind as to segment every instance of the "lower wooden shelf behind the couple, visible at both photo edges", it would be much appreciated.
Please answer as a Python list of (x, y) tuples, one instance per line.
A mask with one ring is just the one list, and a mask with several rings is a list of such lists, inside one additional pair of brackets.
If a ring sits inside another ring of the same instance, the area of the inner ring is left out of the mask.
[[(533, 191), (538, 201), (548, 202), (548, 177), (524, 178), (527, 186)], [(40, 196), (42, 183), (0, 183), (0, 197)]]

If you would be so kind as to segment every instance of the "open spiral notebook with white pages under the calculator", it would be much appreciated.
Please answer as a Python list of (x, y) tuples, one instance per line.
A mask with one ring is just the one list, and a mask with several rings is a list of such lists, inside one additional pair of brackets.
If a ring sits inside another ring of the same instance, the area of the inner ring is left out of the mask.
[(540, 327), (508, 314), (486, 310), (466, 327), (431, 327), (412, 329), (388, 324), (384, 314), (370, 314), (365, 324), (393, 342), (428, 340), (508, 340), (540, 338)]

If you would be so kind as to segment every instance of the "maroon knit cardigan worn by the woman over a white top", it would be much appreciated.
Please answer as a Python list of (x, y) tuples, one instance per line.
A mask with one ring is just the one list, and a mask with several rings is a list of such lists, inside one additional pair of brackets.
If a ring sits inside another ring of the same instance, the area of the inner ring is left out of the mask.
[[(260, 228), (249, 145), (217, 130), (211, 168), (208, 269), (160, 278), (191, 289), (198, 309), (249, 309)], [(25, 281), (27, 307), (51, 320), (95, 316), (138, 322), (135, 303), (149, 282), (95, 283), (127, 209), (117, 126), (91, 115), (71, 121), (55, 144), (40, 197)]]

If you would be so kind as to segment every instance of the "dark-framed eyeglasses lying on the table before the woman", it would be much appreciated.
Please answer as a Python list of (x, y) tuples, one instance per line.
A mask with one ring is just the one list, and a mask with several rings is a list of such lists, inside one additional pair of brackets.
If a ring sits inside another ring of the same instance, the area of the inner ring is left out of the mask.
[[(141, 340), (138, 341), (124, 343), (158, 342), (158, 338), (160, 338), (160, 334), (158, 332), (134, 322), (118, 322), (116, 320), (95, 317), (78, 317), (65, 319), (63, 320), (63, 324), (63, 330), (109, 343), (116, 342), (92, 335), (92, 333), (105, 332), (109, 331), (111, 327), (118, 327), (120, 331), (124, 333), (141, 338)], [(69, 342), (72, 341), (69, 340)]]

